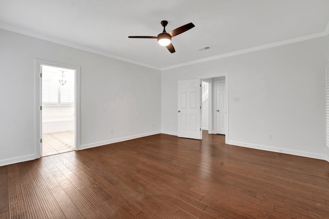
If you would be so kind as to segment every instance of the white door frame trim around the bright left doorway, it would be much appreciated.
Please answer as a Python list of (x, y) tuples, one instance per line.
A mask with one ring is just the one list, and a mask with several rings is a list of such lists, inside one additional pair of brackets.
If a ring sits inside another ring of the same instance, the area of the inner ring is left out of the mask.
[(80, 150), (80, 67), (35, 59), (35, 147), (34, 158), (41, 157), (42, 139), (42, 79), (41, 65), (75, 70), (75, 150)]

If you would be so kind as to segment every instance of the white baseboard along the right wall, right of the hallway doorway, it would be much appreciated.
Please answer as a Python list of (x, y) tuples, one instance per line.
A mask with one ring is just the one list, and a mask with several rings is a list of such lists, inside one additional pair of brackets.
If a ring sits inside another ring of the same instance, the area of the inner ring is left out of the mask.
[(244, 143), (244, 142), (235, 142), (235, 141), (228, 141), (226, 144), (240, 146), (240, 147), (246, 147), (246, 148), (259, 149), (259, 150), (264, 150), (264, 151), (304, 156), (304, 157), (315, 158), (315, 159), (327, 161), (326, 154), (310, 153), (310, 152), (305, 152), (305, 151), (290, 150), (290, 149), (285, 149), (285, 148), (277, 148), (277, 147), (270, 147), (270, 146), (257, 145), (257, 144), (248, 144), (248, 143)]

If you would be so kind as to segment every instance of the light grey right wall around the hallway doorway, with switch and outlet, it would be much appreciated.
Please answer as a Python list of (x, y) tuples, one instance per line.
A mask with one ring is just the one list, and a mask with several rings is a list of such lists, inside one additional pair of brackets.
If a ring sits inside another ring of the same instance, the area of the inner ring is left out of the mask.
[(230, 144), (325, 160), (326, 41), (321, 37), (162, 71), (161, 131), (177, 135), (178, 80), (228, 72)]

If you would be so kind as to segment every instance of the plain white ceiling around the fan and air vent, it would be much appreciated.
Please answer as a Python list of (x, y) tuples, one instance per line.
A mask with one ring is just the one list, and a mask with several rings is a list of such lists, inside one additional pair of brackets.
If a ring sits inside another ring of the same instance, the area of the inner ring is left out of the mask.
[[(0, 0), (0, 28), (110, 57), (166, 69), (248, 48), (327, 32), (329, 0)], [(156, 39), (173, 37), (170, 53)], [(288, 41), (287, 41), (288, 40)], [(200, 48), (208, 50), (198, 51)]]

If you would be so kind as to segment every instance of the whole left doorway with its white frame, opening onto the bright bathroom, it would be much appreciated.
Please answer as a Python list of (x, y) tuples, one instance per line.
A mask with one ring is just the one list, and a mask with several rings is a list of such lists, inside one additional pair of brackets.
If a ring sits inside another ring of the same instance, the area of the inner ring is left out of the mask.
[(80, 150), (80, 67), (35, 59), (35, 158)]

